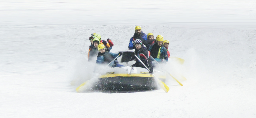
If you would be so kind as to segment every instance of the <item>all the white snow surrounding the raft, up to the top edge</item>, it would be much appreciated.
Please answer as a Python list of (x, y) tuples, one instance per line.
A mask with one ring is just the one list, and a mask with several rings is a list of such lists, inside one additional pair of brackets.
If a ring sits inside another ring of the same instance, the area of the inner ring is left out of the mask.
[[(161, 2), (0, 1), (0, 117), (255, 118), (256, 2)], [(77, 93), (95, 78), (91, 33), (112, 39), (111, 52), (127, 51), (135, 25), (185, 59), (165, 67), (184, 86), (167, 76), (168, 93)]]

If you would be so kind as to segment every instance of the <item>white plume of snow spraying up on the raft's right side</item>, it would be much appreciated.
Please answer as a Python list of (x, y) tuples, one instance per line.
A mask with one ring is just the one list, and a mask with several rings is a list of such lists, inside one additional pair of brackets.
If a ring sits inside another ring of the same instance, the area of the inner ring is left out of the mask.
[(160, 66), (166, 70), (166, 84), (179, 85), (175, 79), (181, 83), (189, 81), (190, 84), (201, 81), (207, 75), (205, 64), (202, 62), (194, 48), (186, 52), (184, 63), (180, 62), (177, 57), (169, 58), (166, 65)]

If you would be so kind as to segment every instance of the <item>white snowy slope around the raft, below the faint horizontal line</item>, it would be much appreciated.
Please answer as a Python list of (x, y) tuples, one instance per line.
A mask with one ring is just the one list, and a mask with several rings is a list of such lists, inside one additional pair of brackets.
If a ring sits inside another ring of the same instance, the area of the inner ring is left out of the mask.
[[(89, 36), (112, 39), (111, 52), (128, 50), (134, 25), (1, 26), (1, 117), (254, 118), (256, 30), (252, 26), (141, 26), (169, 39), (173, 74), (163, 90), (135, 93), (76, 93), (90, 74)], [(230, 30), (233, 29), (233, 30)], [(70, 83), (72, 85), (70, 85)], [(78, 82), (79, 83), (79, 82)]]

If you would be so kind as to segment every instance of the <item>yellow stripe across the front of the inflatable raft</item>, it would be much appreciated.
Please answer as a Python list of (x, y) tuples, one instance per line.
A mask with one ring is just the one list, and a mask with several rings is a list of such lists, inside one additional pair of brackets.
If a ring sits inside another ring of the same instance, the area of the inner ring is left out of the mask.
[(107, 74), (102, 75), (100, 78), (105, 77), (154, 77), (152, 74)]

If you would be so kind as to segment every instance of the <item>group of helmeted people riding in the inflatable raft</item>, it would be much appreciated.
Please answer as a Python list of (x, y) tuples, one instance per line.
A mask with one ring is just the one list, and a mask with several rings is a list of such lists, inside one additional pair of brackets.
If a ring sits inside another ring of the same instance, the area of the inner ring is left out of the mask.
[[(91, 61), (93, 57), (97, 56), (97, 64), (109, 64), (109, 66), (117, 67), (122, 66), (118, 64), (117, 57), (121, 56), (123, 53), (111, 53), (109, 52), (114, 46), (110, 39), (107, 41), (101, 40), (99, 34), (92, 34), (89, 37), (91, 45), (88, 52), (88, 61)], [(129, 50), (135, 49), (134, 55), (131, 60), (135, 60), (136, 63), (132, 66), (143, 67), (147, 66), (150, 73), (153, 73), (152, 61), (157, 61), (158, 63), (166, 63), (170, 53), (168, 51), (169, 41), (164, 40), (161, 35), (156, 36), (154, 39), (153, 33), (148, 33), (146, 35), (141, 31), (140, 26), (135, 27), (134, 36), (130, 39)], [(113, 61), (114, 60), (114, 61)], [(140, 60), (140, 61), (139, 61)], [(141, 63), (143, 62), (143, 64)]]

